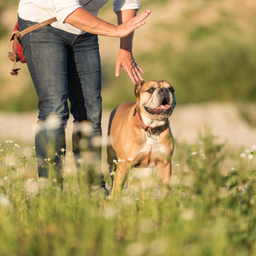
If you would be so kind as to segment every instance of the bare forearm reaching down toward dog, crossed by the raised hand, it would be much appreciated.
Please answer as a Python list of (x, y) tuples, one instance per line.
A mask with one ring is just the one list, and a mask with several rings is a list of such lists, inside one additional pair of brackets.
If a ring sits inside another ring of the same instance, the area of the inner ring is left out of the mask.
[[(137, 10), (125, 10), (125, 11), (117, 12), (117, 22), (118, 24), (122, 24), (126, 20), (129, 20), (130, 18), (135, 17), (136, 14), (137, 14)], [(130, 35), (120, 38), (120, 49), (124, 49), (126, 51), (131, 52), (133, 35), (134, 35), (134, 32), (131, 32)]]

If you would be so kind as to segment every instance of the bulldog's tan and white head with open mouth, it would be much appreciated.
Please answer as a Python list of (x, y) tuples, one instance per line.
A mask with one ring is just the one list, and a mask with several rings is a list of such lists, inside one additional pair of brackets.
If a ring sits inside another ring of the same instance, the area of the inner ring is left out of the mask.
[(167, 119), (176, 105), (174, 88), (167, 81), (138, 81), (134, 93), (140, 113), (151, 119)]

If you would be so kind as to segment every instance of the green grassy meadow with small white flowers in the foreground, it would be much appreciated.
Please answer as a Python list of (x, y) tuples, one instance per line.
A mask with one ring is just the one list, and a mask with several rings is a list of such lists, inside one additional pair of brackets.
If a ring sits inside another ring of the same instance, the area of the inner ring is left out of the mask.
[(170, 189), (132, 170), (114, 201), (77, 185), (72, 154), (60, 190), (38, 182), (33, 148), (0, 144), (0, 255), (256, 254), (255, 145), (227, 152), (206, 131), (176, 145)]

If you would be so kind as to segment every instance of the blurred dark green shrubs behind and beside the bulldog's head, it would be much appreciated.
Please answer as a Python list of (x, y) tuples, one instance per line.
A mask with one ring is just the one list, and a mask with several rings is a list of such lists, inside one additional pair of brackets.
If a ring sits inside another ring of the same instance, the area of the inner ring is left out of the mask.
[[(201, 32), (200, 32), (201, 33)], [(256, 54), (253, 45), (226, 41), (221, 45), (188, 47), (182, 52), (174, 51), (169, 45), (154, 52), (145, 52), (139, 63), (146, 71), (145, 80), (167, 80), (176, 91), (179, 104), (206, 101), (250, 101), (256, 100)], [(104, 73), (108, 93), (112, 102), (134, 98), (128, 76), (121, 76), (122, 86), (116, 86), (109, 72)], [(128, 88), (126, 90), (125, 88)], [(110, 95), (111, 96), (111, 95)]]

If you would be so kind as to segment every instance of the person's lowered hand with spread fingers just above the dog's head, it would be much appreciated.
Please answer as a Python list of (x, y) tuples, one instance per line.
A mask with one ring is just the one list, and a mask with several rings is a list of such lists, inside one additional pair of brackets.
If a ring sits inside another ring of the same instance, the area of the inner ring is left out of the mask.
[(128, 73), (131, 81), (136, 84), (137, 81), (143, 81), (141, 73), (144, 74), (142, 68), (134, 61), (130, 51), (120, 49), (116, 59), (116, 77), (120, 74), (120, 68), (123, 67)]

